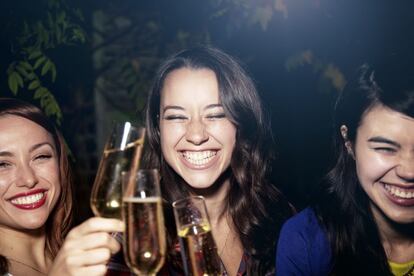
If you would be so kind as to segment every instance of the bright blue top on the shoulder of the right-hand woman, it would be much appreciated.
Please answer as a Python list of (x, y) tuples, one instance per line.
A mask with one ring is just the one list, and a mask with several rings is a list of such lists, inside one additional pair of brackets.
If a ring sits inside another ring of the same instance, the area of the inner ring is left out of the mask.
[(326, 233), (311, 208), (282, 227), (276, 253), (276, 275), (328, 275), (332, 254)]

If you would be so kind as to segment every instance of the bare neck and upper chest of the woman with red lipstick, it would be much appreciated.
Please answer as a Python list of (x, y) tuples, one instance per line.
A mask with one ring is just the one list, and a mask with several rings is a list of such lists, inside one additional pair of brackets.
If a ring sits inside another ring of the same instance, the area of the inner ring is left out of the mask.
[(46, 271), (50, 260), (45, 246), (43, 228), (20, 231), (0, 226), (0, 254), (7, 259)]

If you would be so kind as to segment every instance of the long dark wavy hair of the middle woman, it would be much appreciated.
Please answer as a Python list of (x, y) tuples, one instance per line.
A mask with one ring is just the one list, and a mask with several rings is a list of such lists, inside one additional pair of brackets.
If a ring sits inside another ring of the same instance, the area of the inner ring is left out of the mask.
[[(189, 186), (165, 162), (161, 152), (159, 110), (164, 80), (180, 68), (210, 69), (219, 86), (224, 112), (236, 126), (236, 145), (230, 168), (226, 210), (230, 214), (245, 252), (250, 256), (249, 274), (265, 275), (274, 271), (276, 240), (282, 223), (292, 214), (290, 204), (266, 179), (272, 159), (272, 134), (260, 97), (251, 78), (239, 63), (221, 50), (200, 46), (168, 58), (156, 74), (146, 109), (150, 150), (148, 163), (160, 168), (162, 192), (170, 205), (189, 194)], [(220, 181), (220, 180), (218, 180)], [(176, 237), (171, 210), (166, 210), (169, 241)], [(173, 244), (169, 244), (170, 248)]]

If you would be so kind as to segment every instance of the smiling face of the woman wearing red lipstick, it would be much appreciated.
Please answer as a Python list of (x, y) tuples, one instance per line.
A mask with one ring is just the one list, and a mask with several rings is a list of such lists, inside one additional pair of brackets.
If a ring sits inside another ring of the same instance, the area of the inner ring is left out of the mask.
[(0, 117), (0, 227), (37, 229), (60, 194), (52, 136), (25, 118)]

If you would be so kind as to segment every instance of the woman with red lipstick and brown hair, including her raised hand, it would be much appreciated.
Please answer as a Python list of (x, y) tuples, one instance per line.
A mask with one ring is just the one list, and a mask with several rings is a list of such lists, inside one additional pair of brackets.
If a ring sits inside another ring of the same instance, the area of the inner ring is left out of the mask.
[(123, 223), (93, 218), (69, 231), (72, 199), (58, 130), (37, 107), (0, 98), (1, 275), (105, 274), (119, 250), (109, 232)]

